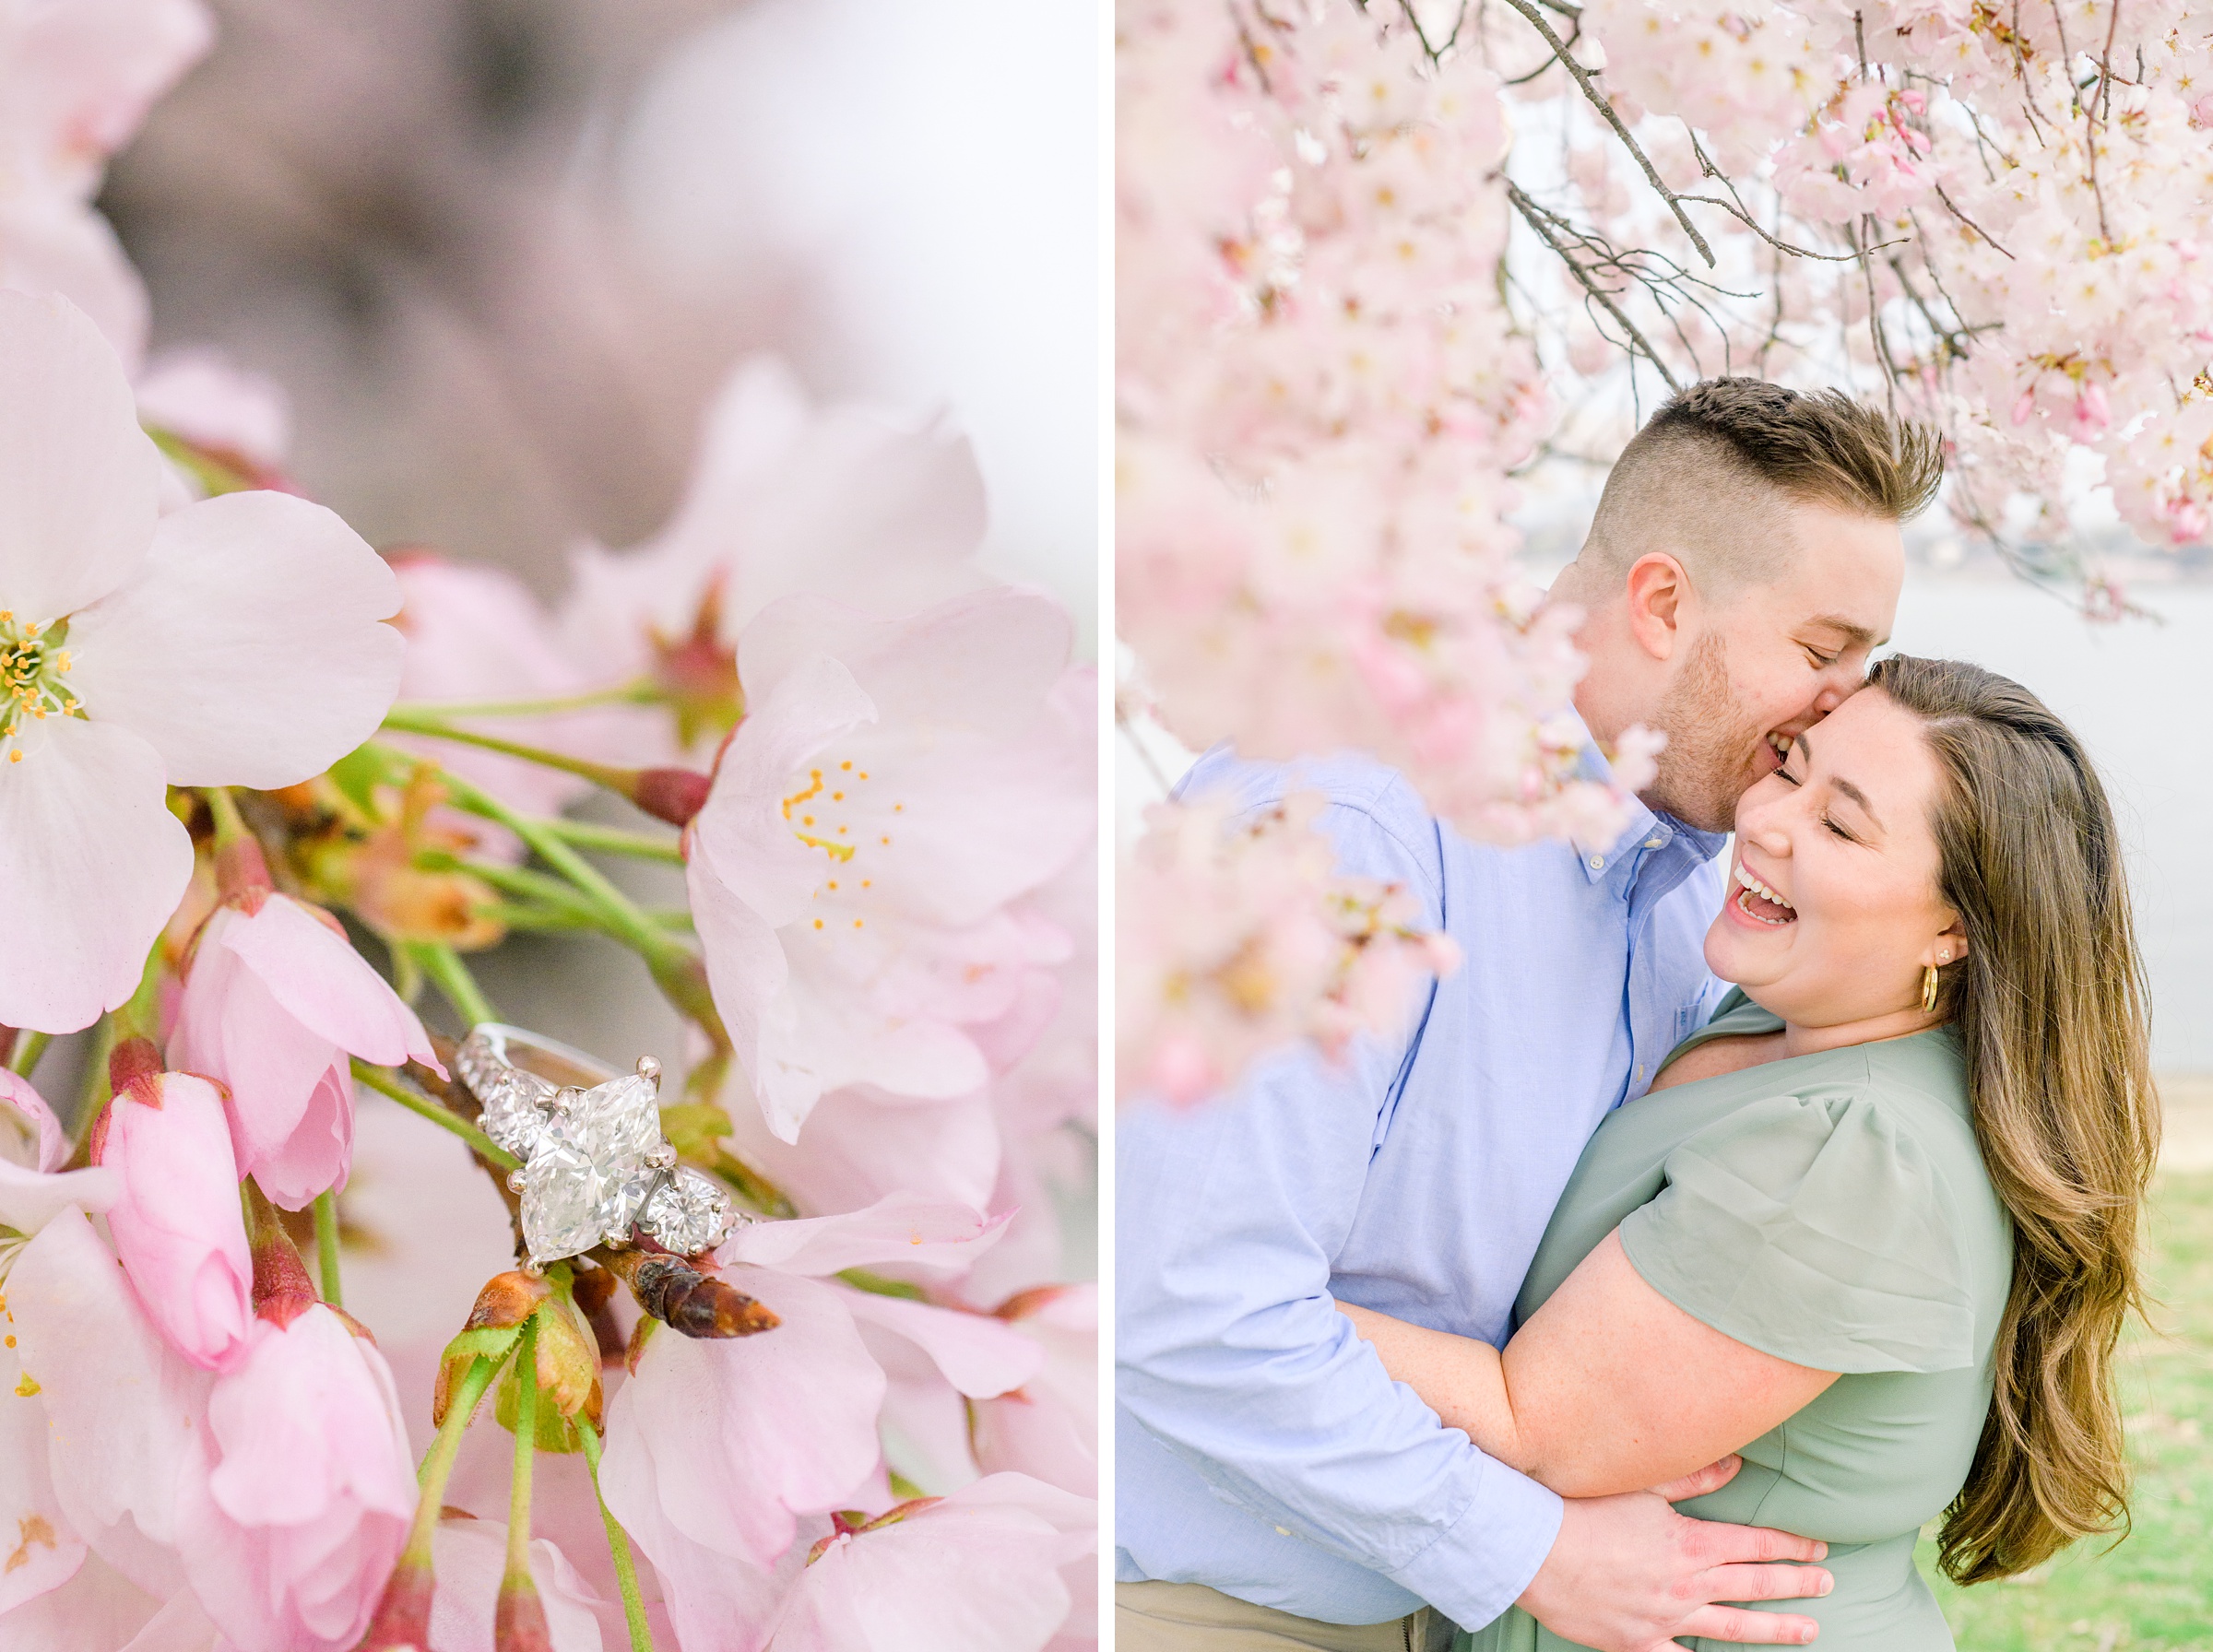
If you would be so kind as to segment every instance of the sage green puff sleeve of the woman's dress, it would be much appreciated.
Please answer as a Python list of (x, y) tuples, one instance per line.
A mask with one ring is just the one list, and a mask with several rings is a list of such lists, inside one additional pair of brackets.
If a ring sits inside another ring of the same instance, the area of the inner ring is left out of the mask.
[(1817, 1371), (1976, 1362), (1959, 1210), (1866, 1095), (1781, 1095), (1700, 1130), (1622, 1221), (1646, 1285), (1762, 1353)]

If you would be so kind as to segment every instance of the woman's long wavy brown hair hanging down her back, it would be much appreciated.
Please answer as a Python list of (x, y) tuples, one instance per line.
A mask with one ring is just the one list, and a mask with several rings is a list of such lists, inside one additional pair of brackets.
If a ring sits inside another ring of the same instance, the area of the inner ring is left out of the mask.
[(1943, 971), (1941, 1008), (2014, 1219), (1996, 1393), (1939, 1533), (1945, 1575), (1981, 1583), (2127, 1530), (2113, 1345), (2142, 1307), (2160, 1146), (2144, 971), (2113, 809), (2074, 732), (1978, 666), (1897, 657), (1868, 683), (1921, 717), (1945, 774), (1939, 882), (1967, 955)]

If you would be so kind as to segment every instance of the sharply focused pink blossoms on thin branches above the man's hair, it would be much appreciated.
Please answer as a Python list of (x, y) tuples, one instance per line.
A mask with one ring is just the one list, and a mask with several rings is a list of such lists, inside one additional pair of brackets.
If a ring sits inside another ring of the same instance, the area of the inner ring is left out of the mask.
[[(1952, 442), (1963, 526), (2065, 540), (2087, 491), (2153, 546), (2213, 504), (2213, 27), (2186, 4), (1660, 4), (1600, 0), (1580, 60), (1720, 254), (1671, 349), (1735, 369), (1888, 385)], [(1523, 46), (1527, 51), (1527, 42)], [(1560, 69), (1587, 142), (1611, 142)], [(1693, 148), (1702, 137), (1702, 164)], [(1615, 248), (1695, 274), (1658, 197), (1556, 197)], [(1781, 243), (1781, 245), (1777, 245)], [(1817, 254), (1817, 257), (1806, 257)], [(1627, 283), (1622, 283), (1627, 285)], [(1677, 305), (1680, 310), (1680, 305)], [(2093, 464), (2082, 460), (2093, 456)], [(2085, 482), (2085, 475), (2089, 478)]]

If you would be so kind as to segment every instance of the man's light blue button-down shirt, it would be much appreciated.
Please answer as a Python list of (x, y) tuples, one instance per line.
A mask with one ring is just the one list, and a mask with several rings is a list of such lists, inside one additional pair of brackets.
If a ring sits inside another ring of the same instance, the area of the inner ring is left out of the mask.
[(1359, 756), (1208, 752), (1182, 792), (1222, 790), (1323, 792), (1339, 867), (1419, 893), (1465, 962), (1407, 1037), (1122, 1112), (1115, 1570), (1328, 1623), (1427, 1601), (1478, 1628), (1529, 1586), (1560, 1499), (1394, 1384), (1334, 1300), (1505, 1342), (1585, 1141), (1720, 1002), (1722, 838), (1638, 807), (1604, 849), (1494, 849)]

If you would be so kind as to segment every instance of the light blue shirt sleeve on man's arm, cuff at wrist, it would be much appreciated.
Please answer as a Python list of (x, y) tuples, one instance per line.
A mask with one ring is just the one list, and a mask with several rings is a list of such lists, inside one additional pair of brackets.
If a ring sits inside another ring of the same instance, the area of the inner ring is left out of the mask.
[[(1370, 816), (1321, 825), (1346, 871), (1423, 887)], [(1392, 1382), (1330, 1296), (1407, 1055), (1290, 1050), (1233, 1095), (1122, 1115), (1118, 1398), (1215, 1497), (1478, 1628), (1529, 1586), (1560, 1499)]]

